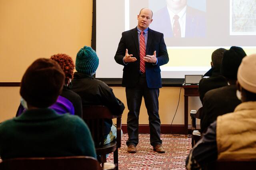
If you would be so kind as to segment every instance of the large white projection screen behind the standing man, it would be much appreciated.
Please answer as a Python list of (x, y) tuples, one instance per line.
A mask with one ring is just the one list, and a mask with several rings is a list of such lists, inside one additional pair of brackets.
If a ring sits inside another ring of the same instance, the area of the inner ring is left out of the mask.
[[(186, 3), (182, 36), (172, 35), (170, 5)], [(220, 47), (243, 47), (255, 53), (254, 0), (96, 0), (96, 52), (100, 59), (96, 78), (122, 78), (123, 66), (114, 60), (122, 32), (135, 28), (141, 8), (150, 8), (149, 28), (162, 32), (169, 62), (161, 66), (162, 78), (184, 78), (210, 69), (212, 52)]]

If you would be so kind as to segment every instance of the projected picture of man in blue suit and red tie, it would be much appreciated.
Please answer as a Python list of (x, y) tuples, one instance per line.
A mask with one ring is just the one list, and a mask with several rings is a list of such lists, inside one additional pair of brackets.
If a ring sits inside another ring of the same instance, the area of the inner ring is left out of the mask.
[(166, 6), (154, 14), (152, 29), (170, 37), (204, 37), (205, 12), (187, 6), (187, 0), (166, 0)]

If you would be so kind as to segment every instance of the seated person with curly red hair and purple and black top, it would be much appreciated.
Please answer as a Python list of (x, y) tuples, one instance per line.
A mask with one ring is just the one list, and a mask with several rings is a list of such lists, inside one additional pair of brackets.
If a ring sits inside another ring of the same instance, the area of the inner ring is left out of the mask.
[[(52, 55), (51, 59), (57, 61), (65, 73), (65, 84), (63, 85), (62, 93), (58, 96), (57, 101), (49, 108), (54, 109), (59, 114), (70, 113), (70, 115), (78, 115), (82, 117), (82, 100), (81, 97), (70, 90), (72, 86), (71, 80), (74, 74), (74, 62), (69, 55), (56, 54)], [(20, 104), (16, 117), (24, 112), (24, 107)]]

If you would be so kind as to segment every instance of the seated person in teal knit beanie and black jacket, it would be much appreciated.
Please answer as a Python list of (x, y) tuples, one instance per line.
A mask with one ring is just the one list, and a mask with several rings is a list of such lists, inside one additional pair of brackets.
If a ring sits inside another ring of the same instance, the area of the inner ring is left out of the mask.
[[(115, 97), (112, 89), (103, 81), (95, 79), (99, 65), (96, 52), (84, 46), (76, 55), (76, 71), (72, 80), (72, 90), (82, 98), (82, 105), (104, 105), (113, 115), (121, 115), (124, 104)], [(104, 144), (112, 142), (116, 138), (116, 127), (111, 119), (105, 119)]]

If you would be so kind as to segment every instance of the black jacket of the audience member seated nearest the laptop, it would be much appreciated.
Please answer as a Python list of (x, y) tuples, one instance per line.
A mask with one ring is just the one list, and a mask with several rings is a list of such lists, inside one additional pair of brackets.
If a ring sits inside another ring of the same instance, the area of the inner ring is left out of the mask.
[(199, 81), (198, 92), (201, 102), (203, 103), (204, 95), (207, 91), (226, 85), (228, 85), (228, 81), (220, 74), (219, 69), (212, 68), (212, 76), (209, 78), (202, 78)]

